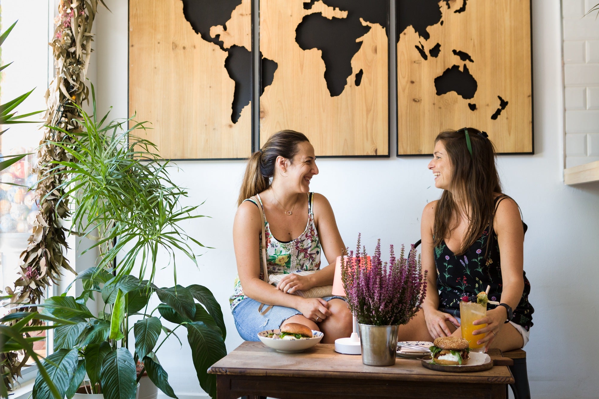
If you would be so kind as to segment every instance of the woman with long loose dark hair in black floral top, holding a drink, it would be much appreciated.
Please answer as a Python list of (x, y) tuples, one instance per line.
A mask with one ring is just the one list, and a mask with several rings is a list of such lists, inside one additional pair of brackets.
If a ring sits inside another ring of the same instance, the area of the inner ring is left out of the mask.
[(440, 133), (428, 164), (441, 198), (422, 213), (422, 268), (428, 271), (422, 309), (399, 339), (461, 337), (459, 303), (476, 302), (489, 286), (486, 316), (474, 321), (477, 344), (512, 350), (528, 342), (533, 306), (523, 270), (524, 233), (518, 204), (503, 194), (495, 149), (474, 128)]

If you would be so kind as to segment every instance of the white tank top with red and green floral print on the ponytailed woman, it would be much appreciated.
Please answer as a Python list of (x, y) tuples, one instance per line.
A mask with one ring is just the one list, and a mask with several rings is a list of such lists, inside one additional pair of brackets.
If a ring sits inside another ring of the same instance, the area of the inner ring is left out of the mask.
[[(255, 201), (247, 199), (245, 201), (252, 201), (256, 206), (262, 207), (262, 199), (260, 195), (258, 197), (259, 204)], [(307, 270), (319, 270), (320, 268), (320, 240), (318, 239), (318, 232), (316, 231), (316, 225), (314, 225), (314, 211), (313, 211), (313, 200), (314, 193), (308, 193), (308, 224), (305, 226), (304, 232), (295, 240), (284, 242), (279, 241), (273, 237), (270, 232), (270, 226), (264, 215), (264, 234), (266, 235), (265, 244), (266, 250), (266, 262), (268, 274), (289, 274), (296, 271), (307, 271)], [(259, 237), (262, 240), (262, 232), (259, 233)], [(262, 265), (262, 254), (260, 255), (260, 279), (264, 278), (263, 273), (264, 267)], [(229, 298), (231, 304), (231, 310), (235, 308), (241, 301), (246, 297), (243, 294), (241, 288), (241, 282), (239, 276), (235, 277), (235, 292)]]

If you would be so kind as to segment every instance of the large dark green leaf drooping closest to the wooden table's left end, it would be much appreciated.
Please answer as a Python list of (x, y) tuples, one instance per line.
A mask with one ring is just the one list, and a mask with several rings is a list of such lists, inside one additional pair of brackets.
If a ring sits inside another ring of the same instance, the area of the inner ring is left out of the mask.
[(205, 325), (204, 322), (189, 323), (185, 327), (199, 386), (214, 398), (216, 397), (216, 376), (208, 374), (207, 370), (226, 356), (225, 341), (214, 328)]

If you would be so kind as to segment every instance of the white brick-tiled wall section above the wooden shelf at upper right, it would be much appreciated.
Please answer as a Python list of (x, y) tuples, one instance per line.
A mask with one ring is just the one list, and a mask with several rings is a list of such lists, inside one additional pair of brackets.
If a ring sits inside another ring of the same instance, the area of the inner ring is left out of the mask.
[(562, 0), (565, 166), (599, 161), (599, 0)]

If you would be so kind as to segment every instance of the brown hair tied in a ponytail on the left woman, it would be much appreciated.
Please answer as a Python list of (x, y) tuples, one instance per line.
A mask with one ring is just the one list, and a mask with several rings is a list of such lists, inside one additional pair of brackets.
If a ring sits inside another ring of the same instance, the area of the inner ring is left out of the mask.
[(253, 153), (247, 162), (237, 206), (241, 205), (243, 200), (269, 188), (277, 156), (293, 162), (295, 154), (298, 153), (298, 144), (304, 141), (310, 142), (304, 134), (293, 130), (282, 130), (268, 138), (262, 149)]

